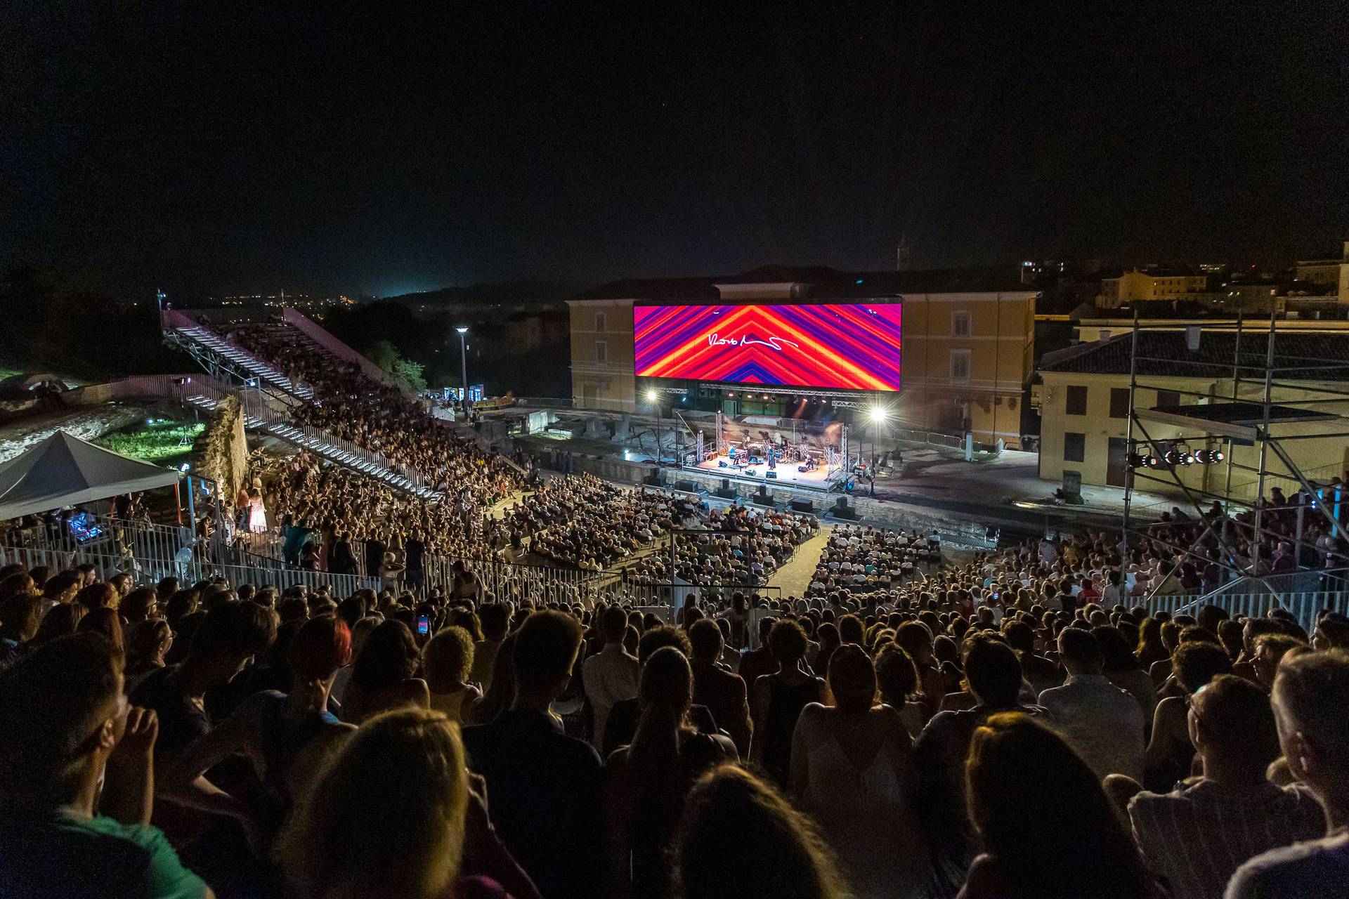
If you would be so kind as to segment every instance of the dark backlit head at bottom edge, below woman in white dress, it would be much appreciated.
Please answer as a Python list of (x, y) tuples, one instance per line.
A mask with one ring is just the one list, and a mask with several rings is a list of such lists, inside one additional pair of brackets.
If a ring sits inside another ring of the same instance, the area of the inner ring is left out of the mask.
[(722, 766), (689, 793), (674, 848), (680, 899), (849, 899), (815, 826), (765, 780)]

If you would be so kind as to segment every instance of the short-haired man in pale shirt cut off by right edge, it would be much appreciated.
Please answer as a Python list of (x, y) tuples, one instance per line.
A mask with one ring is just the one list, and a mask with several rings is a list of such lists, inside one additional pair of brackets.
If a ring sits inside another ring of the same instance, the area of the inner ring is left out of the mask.
[(1286, 656), (1273, 682), (1279, 745), (1326, 810), (1319, 840), (1271, 849), (1237, 868), (1226, 899), (1330, 899), (1349, 890), (1349, 652)]

